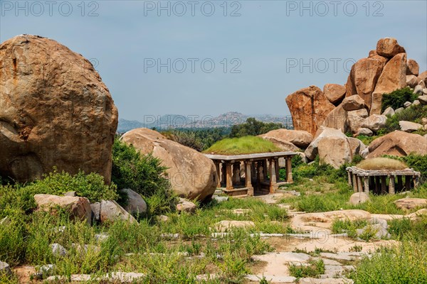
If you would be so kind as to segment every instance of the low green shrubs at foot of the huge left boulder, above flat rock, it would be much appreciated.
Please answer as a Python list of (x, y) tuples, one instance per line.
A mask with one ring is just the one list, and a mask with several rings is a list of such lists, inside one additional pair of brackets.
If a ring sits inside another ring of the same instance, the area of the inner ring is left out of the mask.
[(76, 175), (53, 171), (43, 175), (42, 180), (36, 180), (27, 185), (29, 191), (49, 195), (63, 195), (68, 191), (75, 191), (78, 196), (88, 197), (91, 202), (100, 200), (117, 200), (117, 186), (105, 185), (104, 178), (96, 173), (86, 175), (80, 171)]

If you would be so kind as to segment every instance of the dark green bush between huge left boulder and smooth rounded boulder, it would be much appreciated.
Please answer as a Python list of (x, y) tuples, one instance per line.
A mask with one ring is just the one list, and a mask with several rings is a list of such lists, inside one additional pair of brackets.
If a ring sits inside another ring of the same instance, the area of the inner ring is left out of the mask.
[[(112, 181), (120, 189), (129, 188), (145, 197), (152, 214), (164, 212), (173, 208), (175, 195), (165, 178), (167, 168), (161, 163), (116, 138), (112, 146)], [(126, 200), (121, 197), (119, 202)]]

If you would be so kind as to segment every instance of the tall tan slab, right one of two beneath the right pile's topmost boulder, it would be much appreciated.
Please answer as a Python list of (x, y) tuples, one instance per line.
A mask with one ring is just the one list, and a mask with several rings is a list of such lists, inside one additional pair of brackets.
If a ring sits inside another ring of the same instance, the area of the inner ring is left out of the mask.
[(383, 94), (406, 87), (406, 53), (399, 53), (384, 66), (372, 93), (370, 114), (381, 114)]

